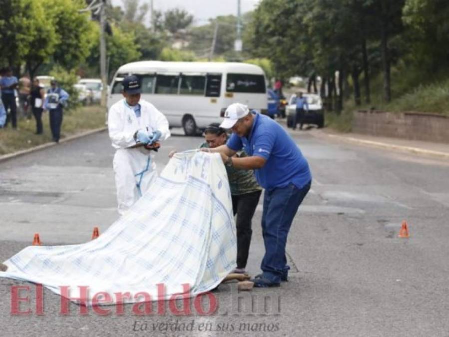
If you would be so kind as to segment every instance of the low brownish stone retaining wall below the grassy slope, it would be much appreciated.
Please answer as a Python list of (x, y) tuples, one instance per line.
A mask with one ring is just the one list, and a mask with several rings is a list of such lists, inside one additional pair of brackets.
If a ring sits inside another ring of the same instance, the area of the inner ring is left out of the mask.
[(403, 112), (355, 111), (355, 133), (449, 143), (449, 117)]

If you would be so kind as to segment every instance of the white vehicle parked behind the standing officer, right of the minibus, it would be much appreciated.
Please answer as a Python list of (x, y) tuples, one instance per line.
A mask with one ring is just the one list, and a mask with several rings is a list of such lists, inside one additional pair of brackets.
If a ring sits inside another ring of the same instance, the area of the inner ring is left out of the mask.
[[(324, 110), (323, 101), (320, 95), (316, 94), (304, 94), (307, 98), (309, 105), (309, 111), (307, 111), (303, 117), (304, 124), (316, 124), (319, 128), (324, 127)], [(294, 118), (296, 114), (296, 94), (290, 96), (287, 105), (287, 126), (293, 127)]]

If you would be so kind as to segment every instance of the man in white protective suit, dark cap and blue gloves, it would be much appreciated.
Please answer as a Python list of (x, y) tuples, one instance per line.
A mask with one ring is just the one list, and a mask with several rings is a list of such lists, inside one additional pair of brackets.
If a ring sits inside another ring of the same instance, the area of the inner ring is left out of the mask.
[(126, 76), (122, 85), (124, 98), (108, 113), (109, 137), (116, 149), (112, 165), (120, 215), (145, 194), (157, 175), (153, 151), (148, 148), (170, 137), (167, 118), (140, 99), (137, 76)]

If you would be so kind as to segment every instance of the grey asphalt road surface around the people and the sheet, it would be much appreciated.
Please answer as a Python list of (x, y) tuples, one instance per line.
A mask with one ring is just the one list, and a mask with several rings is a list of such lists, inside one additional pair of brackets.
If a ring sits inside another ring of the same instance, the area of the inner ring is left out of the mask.
[[(30, 284), (0, 278), (0, 336), (449, 336), (449, 163), (329, 143), (310, 131), (293, 136), (314, 180), (289, 235), (288, 283), (243, 295), (222, 285), (211, 316), (139, 317), (130, 305), (124, 315), (79, 315), (73, 304), (63, 316), (60, 297), (47, 290), (43, 315), (31, 306), (31, 314), (14, 316), (10, 286)], [(170, 150), (200, 141), (171, 137), (158, 168)], [(106, 230), (117, 217), (112, 155), (103, 132), (1, 163), (0, 261), (30, 245), (35, 232), (56, 245), (90, 240), (93, 226)], [(252, 274), (263, 254), (260, 219), (261, 206)], [(409, 239), (397, 237), (403, 220)], [(237, 310), (238, 296), (244, 303), (253, 296), (254, 314)]]

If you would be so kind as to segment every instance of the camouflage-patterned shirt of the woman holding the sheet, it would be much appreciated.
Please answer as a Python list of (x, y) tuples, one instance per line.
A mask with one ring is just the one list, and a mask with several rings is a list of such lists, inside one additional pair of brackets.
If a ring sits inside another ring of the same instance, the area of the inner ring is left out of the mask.
[[(207, 142), (200, 145), (200, 148), (209, 148)], [(245, 151), (241, 150), (235, 154), (236, 157), (246, 157)], [(247, 194), (262, 191), (262, 187), (257, 183), (253, 170), (241, 170), (232, 166), (226, 166), (229, 186), (232, 195)]]

